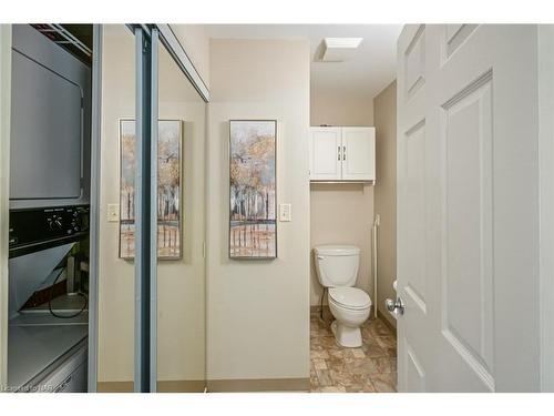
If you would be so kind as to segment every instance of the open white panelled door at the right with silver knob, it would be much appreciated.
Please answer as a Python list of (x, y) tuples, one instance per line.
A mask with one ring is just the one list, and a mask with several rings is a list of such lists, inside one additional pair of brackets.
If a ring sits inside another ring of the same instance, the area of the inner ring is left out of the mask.
[(540, 383), (537, 28), (398, 43), (400, 392)]

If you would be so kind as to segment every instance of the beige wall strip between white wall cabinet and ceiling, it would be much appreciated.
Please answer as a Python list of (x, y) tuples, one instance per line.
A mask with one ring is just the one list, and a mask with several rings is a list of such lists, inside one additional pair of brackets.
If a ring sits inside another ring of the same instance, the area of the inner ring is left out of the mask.
[(373, 100), (343, 91), (310, 91), (310, 125), (373, 125)]

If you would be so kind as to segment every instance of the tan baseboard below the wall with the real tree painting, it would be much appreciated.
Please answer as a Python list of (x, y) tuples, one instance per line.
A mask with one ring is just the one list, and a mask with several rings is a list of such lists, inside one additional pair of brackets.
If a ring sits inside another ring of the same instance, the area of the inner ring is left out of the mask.
[(209, 393), (244, 392), (309, 392), (309, 378), (260, 378), (260, 379), (212, 379), (207, 382)]

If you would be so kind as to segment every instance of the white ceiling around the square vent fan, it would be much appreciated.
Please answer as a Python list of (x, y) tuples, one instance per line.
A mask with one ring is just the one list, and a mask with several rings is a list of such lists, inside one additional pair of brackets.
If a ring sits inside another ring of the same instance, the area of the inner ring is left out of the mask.
[[(211, 38), (308, 39), (311, 89), (372, 99), (396, 78), (401, 24), (208, 24)], [(324, 38), (363, 38), (347, 62), (318, 62)]]

